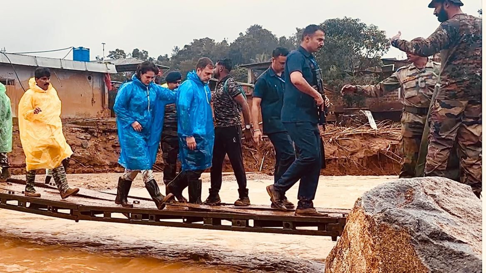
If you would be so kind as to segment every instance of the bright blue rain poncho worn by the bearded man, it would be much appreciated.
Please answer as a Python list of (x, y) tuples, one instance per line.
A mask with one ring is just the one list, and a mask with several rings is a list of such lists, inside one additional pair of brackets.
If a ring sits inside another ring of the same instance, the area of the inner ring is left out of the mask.
[[(211, 90), (201, 82), (195, 71), (178, 88), (177, 134), (179, 135), (179, 160), (183, 171), (205, 170), (211, 167), (214, 146)], [(187, 136), (194, 136), (196, 149), (189, 150)]]

